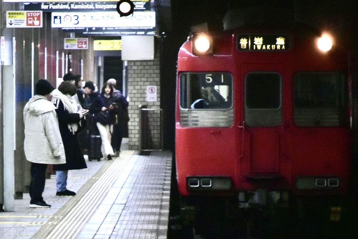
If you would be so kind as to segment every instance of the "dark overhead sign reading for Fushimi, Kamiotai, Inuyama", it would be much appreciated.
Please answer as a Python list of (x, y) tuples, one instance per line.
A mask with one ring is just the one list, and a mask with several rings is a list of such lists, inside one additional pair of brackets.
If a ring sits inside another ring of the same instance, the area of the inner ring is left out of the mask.
[[(134, 11), (149, 11), (150, 1), (134, 1)], [(87, 2), (87, 3), (26, 3), (24, 10), (31, 11), (116, 11), (117, 2)]]

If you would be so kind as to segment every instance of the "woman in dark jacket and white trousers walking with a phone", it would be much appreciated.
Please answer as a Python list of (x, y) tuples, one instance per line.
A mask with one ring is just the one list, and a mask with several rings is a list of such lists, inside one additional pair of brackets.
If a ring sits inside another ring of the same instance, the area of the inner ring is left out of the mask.
[(99, 122), (96, 123), (102, 139), (101, 151), (103, 158), (107, 157), (108, 160), (111, 160), (112, 156), (114, 155), (113, 148), (111, 146), (111, 132), (113, 132), (113, 124), (115, 123), (115, 113), (117, 110), (116, 104), (113, 104), (115, 101), (113, 99), (112, 93), (112, 85), (110, 83), (105, 84), (102, 87), (101, 94), (96, 97), (89, 110), (91, 114), (94, 115), (100, 113), (101, 111), (108, 110), (109, 112), (110, 120), (106, 125), (103, 125)]

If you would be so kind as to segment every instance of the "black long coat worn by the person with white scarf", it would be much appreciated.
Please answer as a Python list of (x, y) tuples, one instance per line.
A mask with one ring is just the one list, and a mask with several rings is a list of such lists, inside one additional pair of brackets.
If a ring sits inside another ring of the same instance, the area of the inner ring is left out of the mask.
[[(64, 109), (63, 103), (59, 100), (58, 109), (56, 109), (58, 124), (60, 128), (60, 133), (62, 137), (63, 146), (65, 149), (66, 163), (65, 164), (54, 164), (53, 169), (55, 171), (63, 170), (73, 170), (73, 169), (83, 169), (87, 168), (86, 161), (83, 157), (83, 152), (79, 147), (77, 133), (81, 130), (78, 127), (78, 130), (75, 134), (68, 129), (69, 123), (79, 123), (80, 118), (79, 114), (72, 113), (70, 114), (68, 110)], [(83, 118), (82, 118), (83, 119)], [(81, 121), (82, 126), (85, 124), (85, 121)], [(79, 126), (79, 125), (78, 125)]]

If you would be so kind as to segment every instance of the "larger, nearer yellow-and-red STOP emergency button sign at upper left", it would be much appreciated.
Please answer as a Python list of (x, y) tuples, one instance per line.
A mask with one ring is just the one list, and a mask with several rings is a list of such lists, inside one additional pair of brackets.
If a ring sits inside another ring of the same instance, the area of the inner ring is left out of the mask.
[(42, 11), (6, 11), (6, 27), (42, 27)]

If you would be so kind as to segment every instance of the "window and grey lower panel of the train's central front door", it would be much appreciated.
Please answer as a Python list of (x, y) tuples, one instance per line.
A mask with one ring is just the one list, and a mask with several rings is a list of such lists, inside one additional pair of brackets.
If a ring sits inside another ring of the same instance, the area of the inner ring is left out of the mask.
[(245, 124), (274, 127), (282, 123), (282, 78), (277, 72), (245, 76)]

